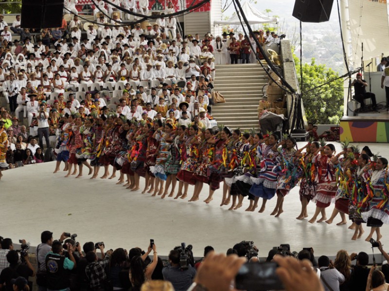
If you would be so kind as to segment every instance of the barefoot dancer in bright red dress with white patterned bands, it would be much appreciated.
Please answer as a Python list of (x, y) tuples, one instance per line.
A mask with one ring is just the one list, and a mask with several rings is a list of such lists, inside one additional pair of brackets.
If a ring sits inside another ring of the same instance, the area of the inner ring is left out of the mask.
[(327, 220), (325, 209), (330, 206), (337, 190), (335, 168), (332, 162), (335, 146), (328, 144), (320, 147), (319, 150), (322, 151), (322, 154), (318, 155), (317, 151), (315, 153), (316, 157), (314, 158), (314, 162), (318, 167), (317, 195), (314, 198), (316, 201), (316, 210), (314, 216), (309, 220), (310, 223), (314, 223), (320, 213), (321, 218), (318, 222)]

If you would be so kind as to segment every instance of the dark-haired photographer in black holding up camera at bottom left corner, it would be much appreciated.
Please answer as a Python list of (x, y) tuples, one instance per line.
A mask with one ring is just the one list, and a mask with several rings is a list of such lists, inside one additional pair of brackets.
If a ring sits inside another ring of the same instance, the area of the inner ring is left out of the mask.
[[(28, 280), (28, 277), (35, 276), (34, 267), (31, 265), (30, 260), (28, 259), (28, 252), (23, 252), (24, 263), (19, 263), (19, 255), (16, 250), (10, 250), (7, 254), (7, 261), (9, 262), (9, 267), (5, 268), (0, 273), (0, 289), (6, 291), (14, 291), (13, 284), (11, 283), (12, 279), (16, 279), (19, 276)], [(5, 285), (5, 289), (3, 288)]]

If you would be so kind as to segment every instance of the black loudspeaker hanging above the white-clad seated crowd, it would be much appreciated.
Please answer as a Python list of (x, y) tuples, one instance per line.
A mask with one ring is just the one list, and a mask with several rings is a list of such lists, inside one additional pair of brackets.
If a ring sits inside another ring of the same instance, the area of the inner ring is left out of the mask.
[(64, 0), (22, 0), (22, 28), (54, 28), (62, 26)]

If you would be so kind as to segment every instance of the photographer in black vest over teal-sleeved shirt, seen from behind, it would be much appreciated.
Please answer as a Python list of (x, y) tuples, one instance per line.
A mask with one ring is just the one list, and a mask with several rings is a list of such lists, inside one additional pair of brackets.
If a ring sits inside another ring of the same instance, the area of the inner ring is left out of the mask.
[(69, 259), (63, 255), (62, 242), (54, 241), (52, 250), (46, 255), (47, 289), (64, 290), (70, 288), (69, 271), (76, 267), (71, 247)]

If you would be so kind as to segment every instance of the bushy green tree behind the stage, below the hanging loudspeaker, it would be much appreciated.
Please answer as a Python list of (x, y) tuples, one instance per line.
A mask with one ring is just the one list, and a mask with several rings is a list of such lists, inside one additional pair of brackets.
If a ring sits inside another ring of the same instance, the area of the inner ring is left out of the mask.
[[(301, 86), (300, 60), (294, 56), (296, 72)], [(311, 64), (302, 65), (302, 102), (307, 120), (318, 124), (337, 124), (343, 115), (343, 78), (325, 65), (317, 65), (315, 58)], [(327, 83), (317, 89), (321, 84)], [(313, 89), (313, 90), (312, 90)], [(312, 91), (310, 91), (312, 90)], [(309, 92), (308, 92), (309, 91)], [(306, 92), (304, 94), (304, 92)]]

